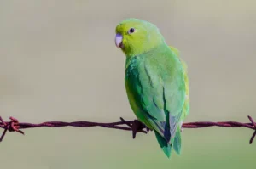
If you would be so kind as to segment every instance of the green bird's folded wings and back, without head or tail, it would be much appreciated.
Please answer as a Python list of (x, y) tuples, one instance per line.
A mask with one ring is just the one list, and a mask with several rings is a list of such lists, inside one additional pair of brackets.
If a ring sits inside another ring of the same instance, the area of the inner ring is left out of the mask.
[(172, 54), (171, 50), (166, 50), (158, 57), (147, 57), (143, 64), (137, 65), (137, 72), (127, 79), (132, 99), (143, 112), (140, 120), (167, 142), (175, 137), (185, 99), (183, 67)]

